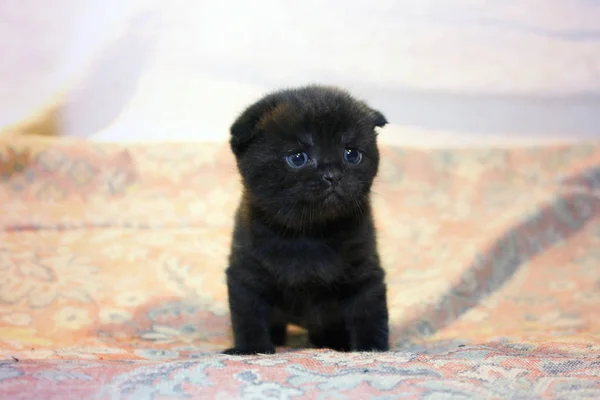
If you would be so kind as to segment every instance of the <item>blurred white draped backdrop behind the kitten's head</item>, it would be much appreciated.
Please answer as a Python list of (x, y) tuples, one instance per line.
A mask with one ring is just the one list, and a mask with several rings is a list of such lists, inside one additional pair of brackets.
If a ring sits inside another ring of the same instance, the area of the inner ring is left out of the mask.
[(600, 138), (596, 0), (2, 0), (0, 50), (0, 131), (221, 141), (312, 82), (382, 110), (388, 142)]

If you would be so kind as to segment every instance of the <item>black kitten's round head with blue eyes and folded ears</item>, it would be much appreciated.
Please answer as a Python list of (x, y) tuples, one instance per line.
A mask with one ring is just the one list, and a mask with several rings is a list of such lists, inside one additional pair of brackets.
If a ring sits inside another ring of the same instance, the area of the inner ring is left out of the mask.
[(246, 195), (279, 223), (319, 223), (360, 211), (379, 165), (385, 117), (322, 86), (272, 93), (231, 126)]

